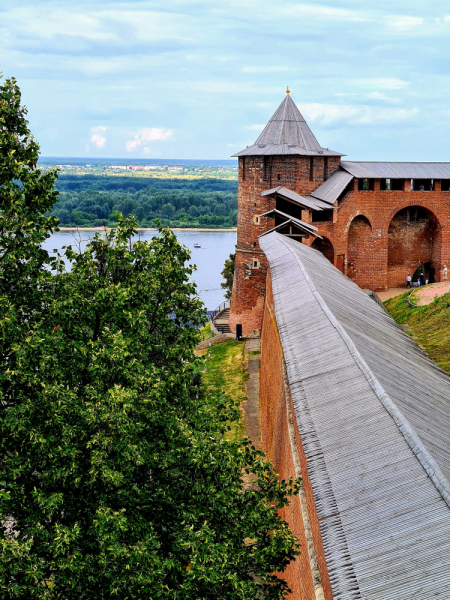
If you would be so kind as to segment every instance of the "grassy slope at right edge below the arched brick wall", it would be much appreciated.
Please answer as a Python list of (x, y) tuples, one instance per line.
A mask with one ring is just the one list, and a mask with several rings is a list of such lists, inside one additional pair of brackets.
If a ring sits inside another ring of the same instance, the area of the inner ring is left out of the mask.
[(450, 374), (450, 293), (417, 308), (409, 307), (407, 296), (391, 298), (384, 305), (397, 323), (410, 326), (414, 340)]

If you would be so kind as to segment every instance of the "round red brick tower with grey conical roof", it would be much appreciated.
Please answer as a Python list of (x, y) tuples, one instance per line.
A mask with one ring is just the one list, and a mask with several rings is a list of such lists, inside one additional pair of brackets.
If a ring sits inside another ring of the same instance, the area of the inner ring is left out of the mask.
[[(342, 154), (320, 146), (288, 89), (256, 142), (234, 156), (239, 158), (238, 226), (229, 325), (234, 332), (240, 323), (245, 336), (259, 336), (267, 260), (258, 237), (286, 222), (286, 216), (293, 219), (288, 234), (299, 241), (308, 237), (309, 228), (303, 226), (311, 223), (311, 213), (296, 196), (308, 196), (328, 179)], [(276, 194), (280, 188), (284, 198)]]

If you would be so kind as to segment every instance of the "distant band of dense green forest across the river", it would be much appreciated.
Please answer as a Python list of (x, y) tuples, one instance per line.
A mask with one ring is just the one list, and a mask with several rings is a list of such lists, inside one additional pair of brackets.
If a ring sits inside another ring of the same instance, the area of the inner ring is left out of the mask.
[(51, 214), (62, 226), (114, 226), (135, 215), (141, 227), (234, 227), (237, 182), (62, 175)]

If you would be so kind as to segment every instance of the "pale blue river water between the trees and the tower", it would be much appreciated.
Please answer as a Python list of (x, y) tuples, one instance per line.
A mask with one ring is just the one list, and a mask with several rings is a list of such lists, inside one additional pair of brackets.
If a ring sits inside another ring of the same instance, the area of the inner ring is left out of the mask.
[[(85, 247), (93, 231), (81, 231), (81, 247)], [(223, 281), (220, 274), (225, 260), (234, 252), (236, 244), (235, 231), (176, 231), (178, 240), (191, 251), (193, 264), (197, 266), (192, 279), (197, 284), (198, 292), (208, 310), (214, 310), (224, 300), (224, 290), (220, 287)], [(156, 232), (141, 231), (140, 239), (150, 240)], [(54, 233), (44, 244), (49, 252), (60, 250), (69, 244), (75, 246), (74, 235), (69, 231)], [(136, 238), (137, 239), (137, 238)], [(201, 248), (194, 248), (200, 244)]]

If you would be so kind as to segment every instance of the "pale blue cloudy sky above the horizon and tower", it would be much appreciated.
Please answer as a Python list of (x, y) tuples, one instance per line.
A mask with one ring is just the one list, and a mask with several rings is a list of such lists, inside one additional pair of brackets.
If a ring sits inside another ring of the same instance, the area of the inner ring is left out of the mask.
[(448, 0), (0, 0), (47, 156), (228, 158), (286, 85), (319, 142), (450, 161)]

